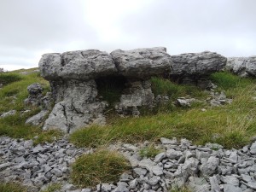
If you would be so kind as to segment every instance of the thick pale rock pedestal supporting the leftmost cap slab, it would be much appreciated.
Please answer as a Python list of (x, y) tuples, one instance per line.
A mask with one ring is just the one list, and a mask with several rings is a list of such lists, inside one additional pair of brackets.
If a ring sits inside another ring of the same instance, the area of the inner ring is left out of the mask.
[(96, 124), (104, 124), (102, 116), (106, 102), (96, 101), (97, 90), (94, 80), (88, 82), (68, 81), (59, 84), (55, 93), (55, 107), (44, 123), (44, 130), (61, 129), (66, 133), (78, 128)]

